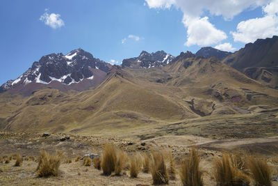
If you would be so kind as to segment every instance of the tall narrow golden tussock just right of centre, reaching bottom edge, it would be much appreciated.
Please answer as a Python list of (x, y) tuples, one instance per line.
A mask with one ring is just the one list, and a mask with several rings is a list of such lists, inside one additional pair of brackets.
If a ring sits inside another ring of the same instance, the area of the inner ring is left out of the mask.
[(167, 184), (169, 182), (165, 160), (161, 152), (152, 152), (151, 172), (154, 185)]

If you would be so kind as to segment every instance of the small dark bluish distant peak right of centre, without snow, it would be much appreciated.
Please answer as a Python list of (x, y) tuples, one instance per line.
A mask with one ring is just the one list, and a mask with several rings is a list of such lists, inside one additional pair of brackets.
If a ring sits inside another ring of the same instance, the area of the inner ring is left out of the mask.
[(213, 47), (202, 47), (196, 52), (196, 56), (204, 56), (206, 58), (209, 58), (211, 56), (215, 56), (217, 59), (222, 60), (225, 57), (229, 56), (231, 52), (225, 52), (219, 49), (215, 49)]

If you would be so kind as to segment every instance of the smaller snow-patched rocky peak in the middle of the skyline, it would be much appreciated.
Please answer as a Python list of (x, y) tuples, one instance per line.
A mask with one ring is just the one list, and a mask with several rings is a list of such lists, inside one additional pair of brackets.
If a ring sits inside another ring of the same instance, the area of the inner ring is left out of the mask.
[(165, 66), (174, 59), (171, 54), (165, 53), (163, 50), (149, 54), (142, 51), (138, 57), (124, 59), (122, 61), (122, 68), (151, 68)]

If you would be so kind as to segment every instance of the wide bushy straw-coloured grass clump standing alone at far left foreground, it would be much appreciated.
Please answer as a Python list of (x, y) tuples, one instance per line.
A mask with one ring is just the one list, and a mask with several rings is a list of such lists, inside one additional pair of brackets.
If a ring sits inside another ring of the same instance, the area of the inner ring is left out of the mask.
[(45, 151), (40, 152), (38, 157), (38, 176), (57, 176), (58, 169), (61, 163), (61, 155), (49, 155)]

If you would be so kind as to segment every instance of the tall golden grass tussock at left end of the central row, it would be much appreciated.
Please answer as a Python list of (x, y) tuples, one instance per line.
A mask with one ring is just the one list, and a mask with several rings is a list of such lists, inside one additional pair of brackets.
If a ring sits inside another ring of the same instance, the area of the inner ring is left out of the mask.
[(115, 171), (117, 163), (116, 149), (112, 144), (105, 144), (101, 160), (101, 169), (106, 175), (111, 175)]

